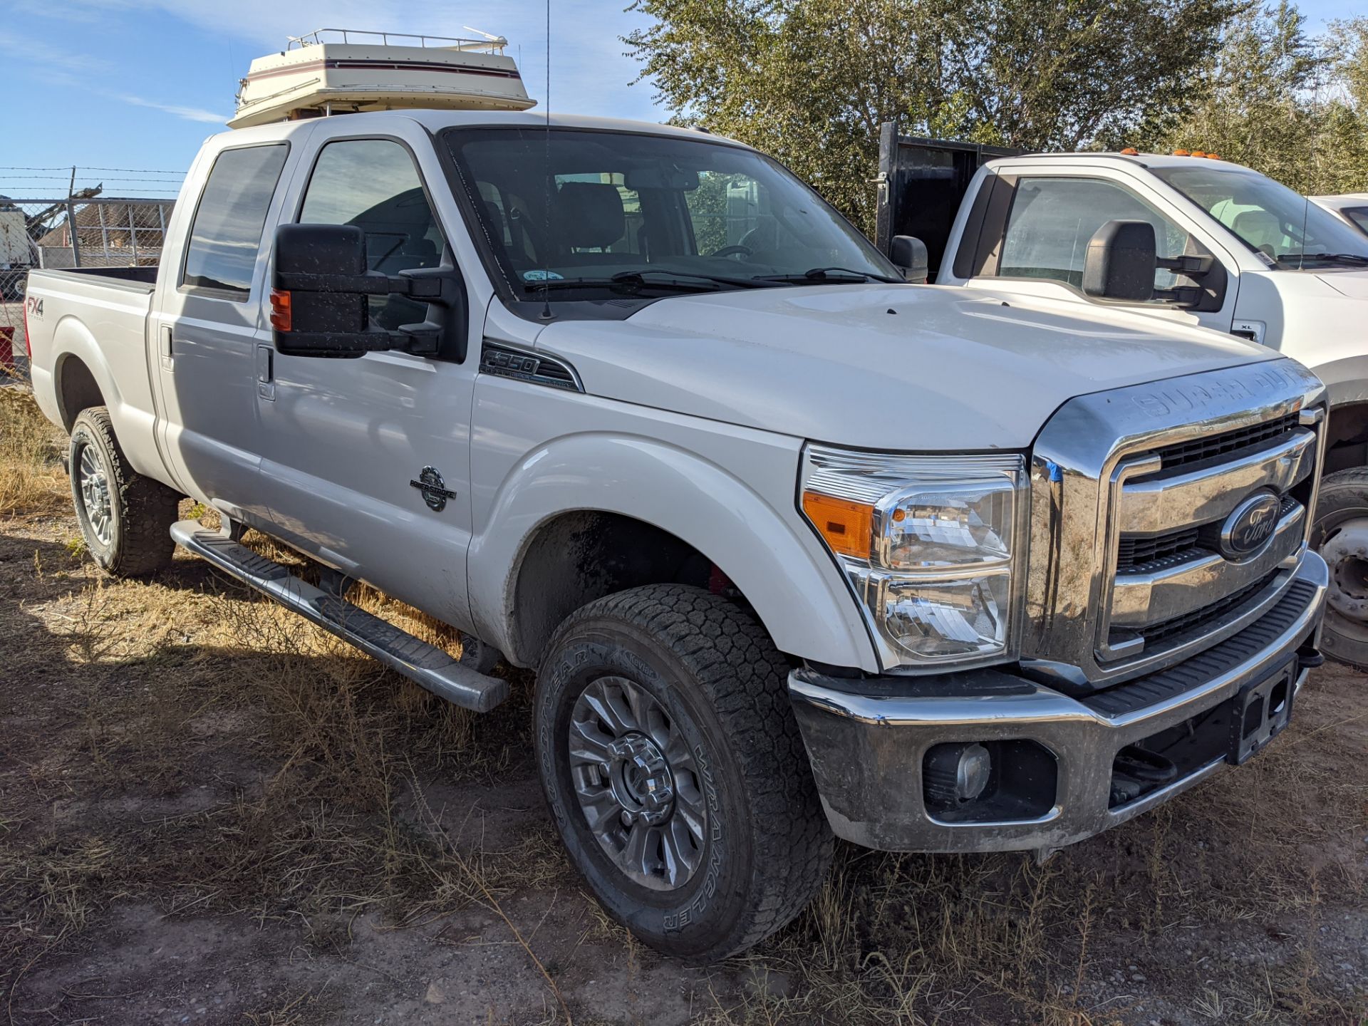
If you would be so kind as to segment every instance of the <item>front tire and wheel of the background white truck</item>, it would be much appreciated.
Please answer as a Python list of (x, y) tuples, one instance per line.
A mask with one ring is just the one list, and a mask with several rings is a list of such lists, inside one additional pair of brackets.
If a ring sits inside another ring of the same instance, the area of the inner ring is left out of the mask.
[(1311, 543), (1330, 566), (1321, 648), (1335, 662), (1368, 669), (1368, 468), (1321, 479)]

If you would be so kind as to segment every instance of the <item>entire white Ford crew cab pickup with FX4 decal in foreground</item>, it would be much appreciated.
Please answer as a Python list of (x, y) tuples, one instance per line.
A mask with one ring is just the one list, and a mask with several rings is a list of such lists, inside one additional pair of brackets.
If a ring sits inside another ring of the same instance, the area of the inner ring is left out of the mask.
[(1044, 854), (1120, 824), (1259, 752), (1320, 661), (1311, 372), (908, 285), (705, 133), (218, 135), (155, 275), (36, 271), (26, 311), (94, 558), (149, 573), (174, 539), (471, 709), (497, 659), (535, 669), (570, 860), (691, 960), (798, 914), (833, 834)]

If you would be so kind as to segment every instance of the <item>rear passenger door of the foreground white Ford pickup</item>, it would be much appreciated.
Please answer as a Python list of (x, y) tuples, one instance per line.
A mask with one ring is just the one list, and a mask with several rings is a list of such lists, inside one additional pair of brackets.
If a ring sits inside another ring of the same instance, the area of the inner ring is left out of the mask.
[(197, 197), (178, 205), (148, 326), (156, 436), (181, 488), (259, 523), (261, 438), (253, 363), (261, 317), (263, 238), (282, 202), (289, 145), (227, 146)]

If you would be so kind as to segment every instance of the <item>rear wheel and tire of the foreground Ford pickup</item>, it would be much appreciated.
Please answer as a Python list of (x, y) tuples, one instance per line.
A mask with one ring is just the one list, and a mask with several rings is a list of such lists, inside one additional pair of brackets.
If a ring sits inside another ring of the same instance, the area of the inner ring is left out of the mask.
[(100, 566), (116, 577), (140, 577), (171, 562), (181, 497), (127, 465), (104, 406), (77, 416), (68, 465), (81, 534)]

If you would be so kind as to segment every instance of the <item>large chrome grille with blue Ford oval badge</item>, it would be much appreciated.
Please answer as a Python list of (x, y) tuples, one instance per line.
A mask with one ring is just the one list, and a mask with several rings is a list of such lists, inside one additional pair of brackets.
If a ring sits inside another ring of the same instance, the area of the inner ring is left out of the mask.
[(1323, 401), (1279, 358), (1066, 402), (1031, 454), (1023, 669), (1094, 691), (1276, 603), (1306, 551)]

